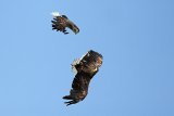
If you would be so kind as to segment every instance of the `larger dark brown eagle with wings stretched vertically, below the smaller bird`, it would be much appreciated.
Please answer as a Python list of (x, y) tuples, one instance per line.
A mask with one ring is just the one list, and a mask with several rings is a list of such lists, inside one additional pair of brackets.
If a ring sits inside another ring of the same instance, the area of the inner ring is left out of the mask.
[(70, 90), (70, 95), (63, 96), (69, 100), (64, 102), (66, 106), (83, 101), (88, 94), (89, 82), (92, 77), (98, 73), (99, 67), (102, 65), (102, 55), (98, 52), (89, 50), (79, 60), (72, 63), (72, 69), (76, 73)]

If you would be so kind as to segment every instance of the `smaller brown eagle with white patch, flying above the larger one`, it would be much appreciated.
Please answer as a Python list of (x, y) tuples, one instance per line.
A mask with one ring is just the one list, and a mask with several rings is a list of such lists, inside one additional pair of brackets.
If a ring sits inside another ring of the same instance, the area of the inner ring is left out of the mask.
[(60, 15), (59, 12), (52, 12), (53, 20), (52, 29), (57, 31), (62, 31), (63, 34), (69, 34), (66, 27), (70, 28), (75, 35), (79, 33), (79, 28), (67, 18), (66, 15)]

